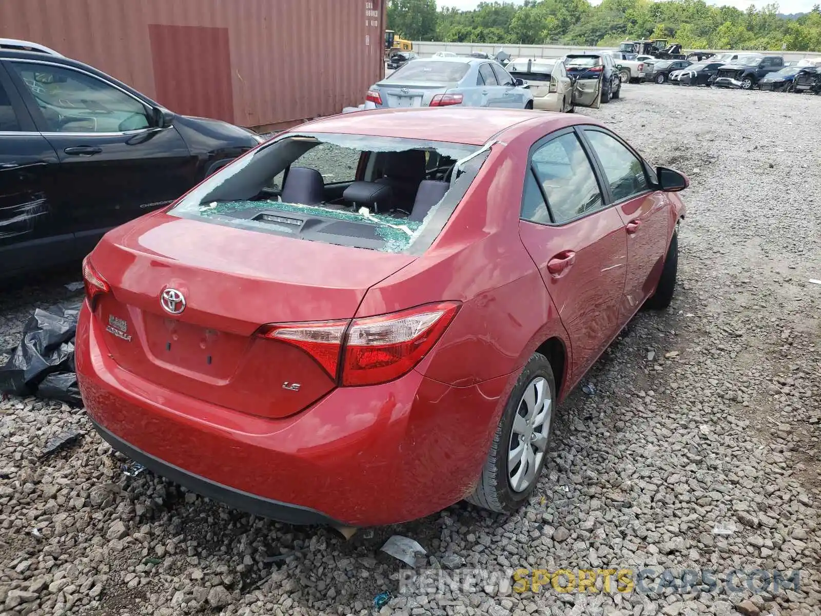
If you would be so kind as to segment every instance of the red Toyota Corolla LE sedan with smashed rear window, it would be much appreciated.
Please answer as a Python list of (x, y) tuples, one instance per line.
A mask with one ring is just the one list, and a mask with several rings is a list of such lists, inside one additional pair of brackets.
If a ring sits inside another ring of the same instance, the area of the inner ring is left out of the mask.
[(285, 522), (511, 511), (557, 402), (670, 303), (686, 186), (588, 117), (304, 124), (87, 257), (89, 416), (145, 467)]

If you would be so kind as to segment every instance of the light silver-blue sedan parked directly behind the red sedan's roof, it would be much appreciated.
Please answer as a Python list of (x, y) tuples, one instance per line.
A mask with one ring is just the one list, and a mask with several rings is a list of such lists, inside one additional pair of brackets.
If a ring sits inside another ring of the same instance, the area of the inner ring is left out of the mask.
[(501, 64), (475, 57), (411, 60), (372, 85), (366, 107), (506, 107), (532, 109), (533, 94)]

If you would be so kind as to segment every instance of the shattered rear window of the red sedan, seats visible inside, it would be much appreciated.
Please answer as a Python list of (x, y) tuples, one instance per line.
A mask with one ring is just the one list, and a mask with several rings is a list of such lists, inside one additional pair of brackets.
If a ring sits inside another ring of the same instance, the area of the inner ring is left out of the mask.
[(214, 173), (168, 214), (250, 231), (421, 254), (487, 158), (475, 145), (284, 135)]

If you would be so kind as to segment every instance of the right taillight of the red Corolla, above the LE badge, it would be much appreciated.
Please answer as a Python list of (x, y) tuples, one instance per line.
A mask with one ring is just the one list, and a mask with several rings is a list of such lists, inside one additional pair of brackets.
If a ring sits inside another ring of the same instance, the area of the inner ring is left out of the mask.
[[(300, 347), (342, 386), (376, 385), (406, 375), (433, 347), (460, 304), (443, 301), (352, 321), (265, 325), (259, 335)], [(342, 369), (339, 368), (342, 357)]]

